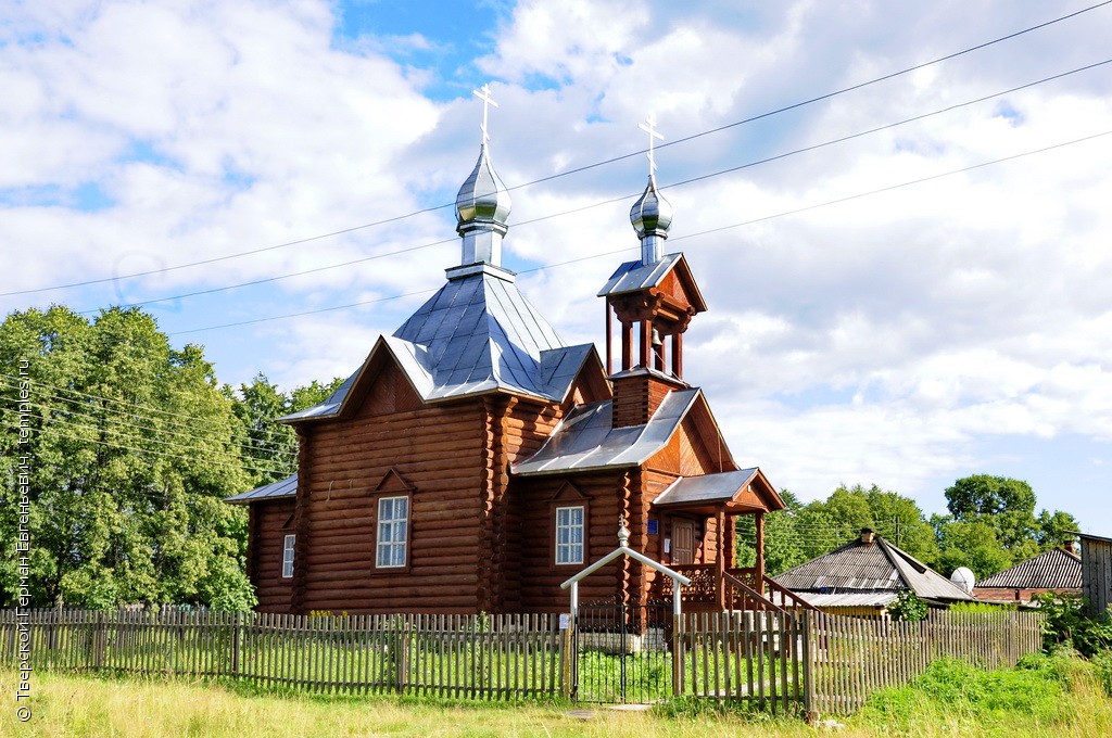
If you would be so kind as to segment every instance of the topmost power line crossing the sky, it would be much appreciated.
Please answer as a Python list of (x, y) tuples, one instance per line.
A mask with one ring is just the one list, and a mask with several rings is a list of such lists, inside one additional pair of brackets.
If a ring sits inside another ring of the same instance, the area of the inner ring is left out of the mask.
[[(930, 61), (925, 61), (925, 62), (915, 64), (913, 67), (907, 67), (906, 69), (901, 69), (898, 71), (890, 72), (887, 74), (883, 74), (881, 77), (876, 77), (876, 78), (866, 80), (864, 82), (858, 82), (858, 83), (855, 83), (855, 84), (851, 84), (848, 87), (844, 87), (844, 88), (841, 88), (838, 90), (834, 90), (834, 91), (831, 91), (831, 92), (825, 92), (823, 94), (818, 94), (818, 96), (815, 96), (813, 98), (808, 98), (806, 100), (802, 100), (800, 102), (794, 102), (794, 103), (791, 103), (791, 104), (787, 104), (787, 106), (783, 106), (781, 108), (776, 108), (774, 110), (770, 110), (770, 111), (766, 111), (766, 112), (763, 112), (763, 113), (758, 113), (756, 116), (751, 116), (748, 118), (744, 118), (742, 120), (737, 120), (737, 121), (734, 121), (732, 123), (727, 123), (725, 126), (719, 126), (717, 128), (707, 129), (707, 130), (704, 130), (704, 131), (699, 131), (697, 133), (692, 133), (692, 134), (686, 136), (686, 137), (674, 139), (673, 141), (664, 143), (664, 144), (662, 144), (658, 148), (664, 148), (666, 146), (678, 146), (681, 143), (685, 143), (687, 141), (692, 141), (692, 140), (702, 138), (704, 136), (711, 136), (711, 134), (714, 134), (714, 133), (718, 133), (718, 132), (722, 132), (722, 131), (725, 131), (725, 130), (729, 130), (732, 128), (736, 128), (738, 126), (743, 126), (745, 123), (751, 123), (751, 122), (754, 122), (754, 121), (757, 121), (757, 120), (770, 118), (772, 116), (776, 116), (776, 114), (780, 114), (780, 113), (783, 113), (783, 112), (787, 112), (790, 110), (796, 110), (798, 108), (803, 108), (805, 106), (810, 106), (810, 104), (813, 104), (815, 102), (821, 102), (823, 100), (830, 100), (831, 98), (837, 97), (840, 94), (845, 94), (846, 92), (852, 92), (852, 91), (855, 91), (855, 90), (860, 90), (860, 89), (863, 89), (865, 87), (870, 87), (872, 84), (876, 84), (878, 82), (891, 80), (891, 79), (894, 79), (896, 77), (901, 77), (903, 74), (907, 74), (910, 72), (917, 71), (920, 69), (924, 69), (926, 67), (931, 67), (933, 64), (941, 63), (943, 61), (949, 61), (951, 59), (955, 59), (957, 57), (971, 53), (973, 51), (979, 51), (981, 49), (985, 49), (985, 48), (994, 46), (996, 43), (1001, 43), (1003, 41), (1007, 41), (1007, 40), (1017, 38), (1017, 37), (1023, 36), (1025, 33), (1031, 33), (1032, 31), (1036, 31), (1036, 30), (1041, 30), (1043, 28), (1048, 28), (1048, 27), (1053, 26), (1055, 23), (1060, 23), (1062, 21), (1065, 21), (1065, 20), (1069, 20), (1069, 19), (1072, 19), (1072, 18), (1076, 18), (1078, 16), (1081, 16), (1083, 13), (1090, 12), (1092, 10), (1096, 10), (1098, 8), (1102, 8), (1102, 7), (1108, 6), (1108, 4), (1112, 4), (1112, 0), (1105, 0), (1104, 2), (1099, 2), (1096, 4), (1089, 6), (1086, 8), (1082, 8), (1080, 10), (1076, 10), (1074, 12), (1068, 13), (1065, 16), (1060, 16), (1060, 17), (1054, 18), (1052, 20), (1049, 20), (1049, 21), (1045, 21), (1045, 22), (1042, 22), (1042, 23), (1037, 23), (1035, 26), (1031, 26), (1029, 28), (1024, 28), (1024, 29), (1021, 29), (1021, 30), (1012, 32), (1012, 33), (1007, 33), (1005, 36), (992, 39), (990, 41), (985, 41), (983, 43), (979, 43), (976, 46), (969, 47), (966, 49), (962, 49), (960, 51), (955, 51), (953, 53), (949, 53), (949, 54), (945, 54), (943, 57), (939, 57), (936, 59), (932, 59)], [(526, 188), (526, 187), (532, 187), (534, 184), (539, 184), (539, 183), (543, 183), (543, 182), (548, 182), (548, 181), (552, 181), (552, 180), (555, 180), (555, 179), (559, 179), (562, 177), (568, 177), (570, 174), (576, 174), (576, 173), (579, 173), (579, 172), (583, 172), (583, 171), (587, 171), (587, 170), (595, 169), (595, 168), (598, 168), (598, 167), (607, 166), (607, 164), (610, 164), (610, 163), (614, 163), (614, 162), (617, 162), (617, 161), (629, 159), (632, 157), (637, 157), (637, 156), (641, 156), (641, 154), (645, 153), (645, 151), (646, 151), (646, 149), (642, 149), (642, 150), (634, 151), (634, 152), (631, 152), (631, 153), (626, 153), (626, 154), (623, 154), (623, 156), (619, 156), (619, 157), (613, 157), (610, 159), (605, 159), (603, 161), (597, 161), (597, 162), (594, 162), (592, 164), (586, 164), (586, 166), (578, 167), (578, 168), (575, 168), (575, 169), (569, 169), (567, 171), (558, 172), (556, 174), (549, 174), (548, 177), (543, 177), (543, 178), (539, 178), (539, 179), (530, 180), (530, 181), (527, 181), (527, 182), (523, 182), (520, 184), (515, 184), (514, 187), (510, 187), (510, 188), (507, 188), (507, 189), (509, 189), (509, 190), (518, 190), (518, 189), (523, 189), (523, 188)], [(450, 208), (454, 205), (455, 203), (453, 202), (453, 203), (444, 203), (444, 205), (439, 205), (439, 206), (431, 206), (431, 207), (427, 207), (427, 208), (421, 208), (419, 210), (414, 210), (413, 212), (408, 212), (408, 213), (405, 213), (405, 215), (394, 216), (394, 217), (385, 218), (385, 219), (377, 220), (377, 221), (374, 221), (374, 222), (364, 223), (361, 226), (353, 226), (350, 228), (342, 228), (342, 229), (339, 229), (339, 230), (330, 231), (328, 233), (321, 233), (321, 235), (318, 235), (318, 236), (310, 236), (310, 237), (306, 237), (306, 238), (301, 238), (301, 239), (296, 239), (296, 240), (292, 240), (292, 241), (286, 241), (286, 242), (282, 242), (282, 243), (277, 243), (277, 245), (272, 245), (272, 246), (267, 246), (267, 247), (261, 247), (261, 248), (257, 248), (257, 249), (251, 249), (251, 250), (248, 250), (248, 251), (240, 251), (238, 253), (230, 253), (230, 255), (226, 255), (226, 256), (222, 256), (222, 257), (214, 257), (211, 259), (202, 259), (202, 260), (199, 260), (199, 261), (192, 261), (192, 262), (176, 265), (173, 267), (162, 267), (162, 268), (159, 268), (159, 269), (150, 269), (150, 270), (147, 270), (147, 271), (138, 271), (138, 272), (132, 272), (132, 273), (129, 273), (129, 275), (117, 275), (115, 277), (105, 277), (105, 278), (99, 278), (99, 279), (83, 280), (83, 281), (79, 281), (79, 282), (70, 282), (70, 283), (67, 283), (67, 285), (52, 285), (52, 286), (49, 286), (49, 287), (38, 287), (38, 288), (31, 288), (31, 289), (24, 289), (24, 290), (14, 290), (14, 291), (10, 291), (10, 292), (0, 292), (0, 297), (13, 297), (13, 296), (18, 296), (18, 295), (32, 295), (32, 293), (38, 293), (38, 292), (49, 292), (49, 291), (53, 291), (53, 290), (71, 289), (71, 288), (75, 288), (75, 287), (88, 287), (88, 286), (91, 286), (91, 285), (101, 285), (101, 283), (105, 283), (105, 282), (115, 281), (117, 279), (131, 279), (131, 278), (135, 278), (135, 277), (148, 277), (148, 276), (151, 276), (151, 275), (160, 275), (160, 273), (166, 273), (166, 272), (169, 272), (169, 271), (177, 271), (177, 270), (186, 269), (186, 268), (189, 268), (189, 267), (198, 267), (198, 266), (203, 266), (203, 265), (217, 263), (217, 262), (220, 262), (220, 261), (227, 261), (229, 259), (237, 259), (237, 258), (245, 257), (245, 256), (254, 256), (256, 253), (262, 253), (265, 251), (274, 251), (274, 250), (277, 250), (277, 249), (284, 249), (284, 248), (291, 247), (291, 246), (298, 246), (298, 245), (302, 245), (302, 243), (309, 243), (311, 241), (318, 241), (318, 240), (321, 240), (321, 239), (327, 239), (327, 238), (332, 238), (332, 237), (336, 237), (336, 236), (341, 236), (341, 235), (345, 235), (345, 233), (350, 233), (350, 232), (354, 232), (354, 231), (357, 231), (357, 230), (363, 230), (363, 229), (367, 229), (367, 228), (384, 226), (384, 225), (388, 225), (388, 223), (391, 223), (391, 222), (397, 222), (399, 220), (405, 220), (405, 219), (408, 219), (408, 218), (413, 218), (413, 217), (416, 217), (416, 216), (419, 216), (419, 215), (423, 215), (423, 213), (427, 213), (427, 212), (433, 212), (433, 211), (436, 211), (436, 210), (443, 210), (443, 209), (446, 209), (446, 208)]]

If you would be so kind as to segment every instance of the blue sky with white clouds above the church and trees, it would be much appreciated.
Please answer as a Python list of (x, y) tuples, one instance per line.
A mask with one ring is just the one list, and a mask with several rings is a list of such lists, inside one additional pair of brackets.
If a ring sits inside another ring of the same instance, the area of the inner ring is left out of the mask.
[(0, 308), (157, 300), (222, 381), (347, 375), (458, 261), (450, 208), (395, 218), (453, 200), (489, 82), (508, 184), (633, 154), (513, 193), (523, 291), (600, 343), (654, 114), (662, 184), (735, 170), (665, 192), (739, 462), (927, 512), (1013, 476), (1112, 535), (1112, 6), (732, 126), (1089, 4), (0, 1), (0, 292), (39, 290)]

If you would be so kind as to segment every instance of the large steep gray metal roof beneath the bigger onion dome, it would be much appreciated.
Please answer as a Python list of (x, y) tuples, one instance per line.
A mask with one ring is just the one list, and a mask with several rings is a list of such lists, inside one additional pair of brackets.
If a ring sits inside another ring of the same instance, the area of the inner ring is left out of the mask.
[(449, 279), (394, 332), (380, 337), (363, 366), (326, 401), (280, 420), (332, 418), (378, 351), (389, 351), (426, 401), (493, 391), (560, 402), (592, 343), (565, 346), (503, 269)]

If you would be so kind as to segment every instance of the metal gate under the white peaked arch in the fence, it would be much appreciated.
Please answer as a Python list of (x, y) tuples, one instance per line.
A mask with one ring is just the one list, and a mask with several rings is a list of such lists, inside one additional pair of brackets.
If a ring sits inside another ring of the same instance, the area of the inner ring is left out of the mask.
[(672, 605), (579, 607), (572, 697), (646, 704), (672, 695)]

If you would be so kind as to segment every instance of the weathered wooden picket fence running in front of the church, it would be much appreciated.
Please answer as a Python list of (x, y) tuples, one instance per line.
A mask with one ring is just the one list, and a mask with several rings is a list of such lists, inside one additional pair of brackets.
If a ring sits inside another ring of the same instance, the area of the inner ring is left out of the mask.
[[(939, 658), (1012, 666), (1039, 650), (1043, 621), (1017, 611), (932, 611), (922, 622), (813, 611), (687, 614), (679, 638), (669, 634), (652, 646), (662, 654), (648, 661), (653, 690), (631, 694), (671, 696), (678, 659), (685, 696), (844, 715)], [(334, 694), (575, 696), (569, 680), (574, 674), (586, 684), (585, 656), (599, 668), (623, 664), (623, 675), (632, 664), (620, 659), (634, 655), (579, 654), (574, 642), (557, 615), (0, 611), (0, 666), (26, 659), (37, 670), (226, 677)]]

